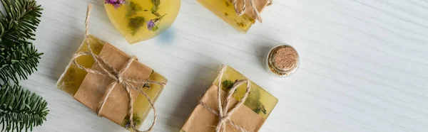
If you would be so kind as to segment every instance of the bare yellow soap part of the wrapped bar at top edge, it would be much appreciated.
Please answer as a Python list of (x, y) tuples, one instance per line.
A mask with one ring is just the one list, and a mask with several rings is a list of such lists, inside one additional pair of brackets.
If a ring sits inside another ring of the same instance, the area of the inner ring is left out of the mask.
[(236, 30), (241, 33), (247, 33), (248, 29), (255, 23), (255, 20), (243, 14), (243, 16), (238, 16), (235, 12), (233, 4), (229, 0), (198, 0), (200, 4), (205, 6), (215, 15), (222, 18), (223, 21), (229, 23), (230, 26), (233, 26)]

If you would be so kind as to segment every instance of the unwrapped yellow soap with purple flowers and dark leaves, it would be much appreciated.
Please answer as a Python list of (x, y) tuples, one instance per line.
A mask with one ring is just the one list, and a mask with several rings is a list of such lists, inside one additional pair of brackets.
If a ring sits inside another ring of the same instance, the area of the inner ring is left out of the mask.
[(104, 6), (113, 26), (132, 44), (154, 38), (170, 27), (180, 0), (127, 0), (120, 6)]

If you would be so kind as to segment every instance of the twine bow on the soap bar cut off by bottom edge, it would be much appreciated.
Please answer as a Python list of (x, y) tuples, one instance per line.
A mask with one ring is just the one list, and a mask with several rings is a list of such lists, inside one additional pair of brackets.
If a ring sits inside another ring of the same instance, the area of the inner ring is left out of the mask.
[[(240, 79), (238, 81), (236, 81), (233, 84), (232, 89), (229, 90), (228, 92), (228, 96), (226, 97), (226, 99), (224, 100), (225, 103), (224, 105), (222, 105), (222, 101), (221, 101), (221, 94), (220, 91), (221, 89), (221, 80), (223, 78), (223, 72), (225, 72), (226, 67), (223, 65), (221, 67), (220, 70), (220, 74), (218, 75), (218, 89), (217, 89), (217, 99), (218, 99), (218, 111), (215, 111), (214, 109), (212, 109), (210, 106), (208, 106), (207, 104), (205, 104), (202, 101), (199, 101), (199, 103), (205, 108), (208, 109), (208, 111), (210, 111), (211, 113), (215, 114), (218, 116), (218, 125), (215, 127), (215, 132), (220, 132), (226, 131), (226, 125), (230, 124), (230, 126), (233, 126), (234, 128), (238, 129), (241, 132), (247, 132), (247, 130), (245, 130), (245, 128), (239, 126), (238, 124), (234, 123), (232, 120), (230, 120), (230, 117), (236, 112), (238, 111), (238, 109), (240, 108), (240, 106), (242, 106), (245, 102), (245, 100), (247, 99), (248, 95), (250, 94), (250, 81), (248, 79)], [(238, 89), (238, 87), (240, 87), (242, 84), (247, 83), (247, 90), (245, 91), (244, 97), (243, 99), (241, 99), (238, 104), (236, 104), (235, 106), (232, 107), (232, 109), (230, 109), (230, 111), (228, 110), (228, 106), (230, 105), (230, 99), (233, 95), (233, 93), (235, 92), (235, 89)]]

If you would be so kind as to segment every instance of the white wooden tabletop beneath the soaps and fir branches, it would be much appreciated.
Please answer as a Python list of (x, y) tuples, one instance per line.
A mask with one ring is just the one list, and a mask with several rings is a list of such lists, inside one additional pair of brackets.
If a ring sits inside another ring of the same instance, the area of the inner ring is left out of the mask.
[[(45, 10), (35, 44), (45, 54), (21, 84), (51, 111), (35, 131), (126, 131), (55, 87), (83, 40), (90, 2), (92, 34), (168, 78), (155, 131), (179, 131), (220, 64), (280, 100), (261, 131), (428, 131), (427, 0), (277, 0), (245, 35), (197, 1), (182, 0), (166, 33), (135, 45), (113, 28), (103, 0), (38, 2)], [(272, 77), (262, 65), (279, 43), (300, 53), (292, 77)]]

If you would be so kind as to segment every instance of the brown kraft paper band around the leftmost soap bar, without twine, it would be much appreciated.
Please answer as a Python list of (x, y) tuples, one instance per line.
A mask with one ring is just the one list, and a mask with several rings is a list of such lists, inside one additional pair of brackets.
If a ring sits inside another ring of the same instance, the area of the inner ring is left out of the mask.
[[(126, 65), (126, 62), (131, 58), (126, 53), (106, 43), (99, 54), (101, 58), (106, 60), (108, 65), (111, 65), (117, 71), (121, 70)], [(96, 63), (91, 67), (92, 70), (101, 70)], [(148, 79), (153, 70), (141, 62), (133, 61), (131, 66), (123, 73), (123, 77), (131, 77), (133, 79)], [(94, 75), (88, 73), (74, 98), (82, 104), (97, 111), (101, 98), (106, 94), (106, 89), (113, 82), (113, 79), (101, 75)], [(133, 101), (137, 99), (138, 92), (131, 89), (133, 94)], [(101, 115), (110, 119), (111, 121), (121, 125), (129, 110), (129, 95), (122, 84), (116, 84), (115, 88), (108, 96), (106, 104), (101, 111)]]

